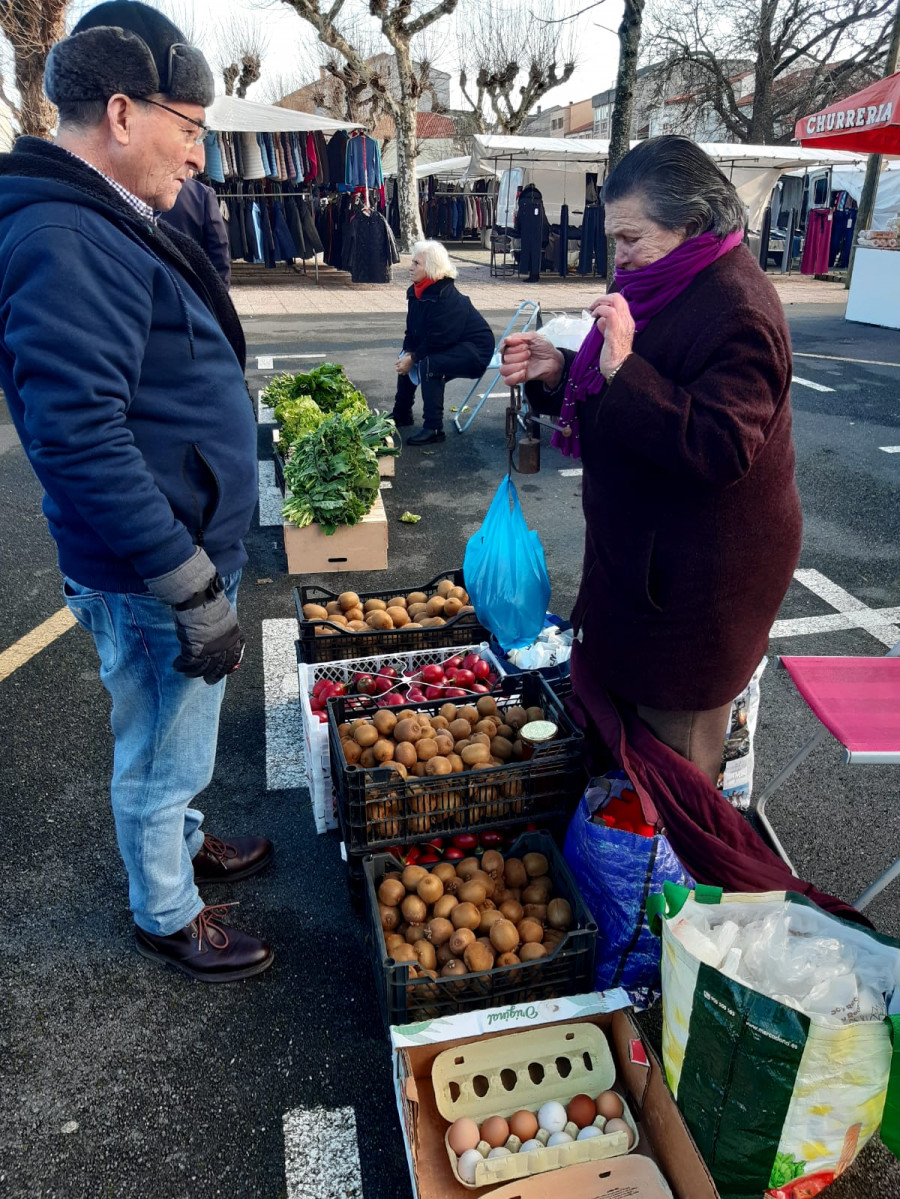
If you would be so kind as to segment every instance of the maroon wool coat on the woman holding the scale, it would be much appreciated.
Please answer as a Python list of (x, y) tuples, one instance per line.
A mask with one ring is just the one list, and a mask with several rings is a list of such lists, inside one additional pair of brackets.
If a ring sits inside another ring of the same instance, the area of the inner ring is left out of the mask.
[[(567, 373), (572, 362), (567, 355)], [(578, 653), (610, 693), (718, 707), (747, 686), (801, 548), (781, 303), (744, 246), (635, 337), (580, 408)], [(562, 386), (528, 384), (558, 412)]]

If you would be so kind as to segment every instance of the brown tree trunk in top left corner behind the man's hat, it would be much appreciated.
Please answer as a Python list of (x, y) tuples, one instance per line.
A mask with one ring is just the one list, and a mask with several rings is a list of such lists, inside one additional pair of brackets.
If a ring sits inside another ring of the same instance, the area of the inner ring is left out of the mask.
[(0, 0), (0, 29), (13, 53), (19, 103), (5, 98), (23, 133), (47, 138), (56, 125), (56, 108), (44, 96), (47, 55), (66, 34), (68, 0)]

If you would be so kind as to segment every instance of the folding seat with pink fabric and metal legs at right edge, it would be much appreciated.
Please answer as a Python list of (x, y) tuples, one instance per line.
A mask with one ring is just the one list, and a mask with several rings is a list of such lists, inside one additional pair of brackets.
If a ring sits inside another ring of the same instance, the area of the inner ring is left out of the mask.
[[(766, 818), (766, 803), (829, 733), (844, 746), (844, 761), (850, 765), (900, 765), (900, 641), (881, 658), (783, 657), (779, 665), (821, 724), (753, 806), (774, 848), (793, 869)], [(853, 906), (862, 911), (899, 876), (900, 858)]]

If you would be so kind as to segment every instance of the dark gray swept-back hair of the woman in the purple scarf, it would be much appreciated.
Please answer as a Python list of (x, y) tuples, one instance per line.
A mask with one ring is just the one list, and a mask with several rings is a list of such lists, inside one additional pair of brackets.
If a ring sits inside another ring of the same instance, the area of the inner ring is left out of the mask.
[(725, 237), (744, 228), (744, 205), (735, 185), (696, 141), (676, 134), (648, 138), (629, 150), (603, 185), (603, 203), (639, 195), (647, 216), (688, 237)]

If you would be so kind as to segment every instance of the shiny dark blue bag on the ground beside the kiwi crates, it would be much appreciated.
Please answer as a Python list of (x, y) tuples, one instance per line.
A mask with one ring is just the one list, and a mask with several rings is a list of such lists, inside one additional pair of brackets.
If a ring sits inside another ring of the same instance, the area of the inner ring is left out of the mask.
[[(642, 837), (591, 817), (636, 788), (622, 771), (592, 778), (566, 833), (563, 855), (597, 924), (597, 990), (622, 987), (638, 1007), (659, 998), (659, 938), (647, 921), (648, 896), (664, 882), (694, 886), (665, 837)], [(653, 821), (650, 821), (653, 823)]]

